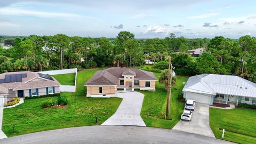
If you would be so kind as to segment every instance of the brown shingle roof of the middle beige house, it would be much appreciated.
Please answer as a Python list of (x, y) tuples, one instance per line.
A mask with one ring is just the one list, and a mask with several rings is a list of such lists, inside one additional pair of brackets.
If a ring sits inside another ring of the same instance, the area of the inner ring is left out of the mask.
[(123, 74), (134, 75), (140, 80), (157, 80), (156, 76), (149, 71), (137, 68), (112, 67), (97, 71), (85, 85), (117, 85), (118, 79), (123, 78)]

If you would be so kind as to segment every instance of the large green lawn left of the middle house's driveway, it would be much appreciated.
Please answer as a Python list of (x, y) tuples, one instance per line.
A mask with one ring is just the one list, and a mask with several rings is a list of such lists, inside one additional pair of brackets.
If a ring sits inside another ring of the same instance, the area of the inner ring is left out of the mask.
[[(46, 99), (25, 100), (22, 105), (4, 109), (2, 130), (7, 137), (74, 126), (100, 125), (113, 115), (121, 103), (120, 98), (86, 98), (83, 84), (99, 69), (77, 73), (75, 93), (61, 93), (68, 98), (68, 107), (42, 108)], [(98, 123), (95, 123), (95, 116)], [(15, 125), (15, 133), (13, 133)]]

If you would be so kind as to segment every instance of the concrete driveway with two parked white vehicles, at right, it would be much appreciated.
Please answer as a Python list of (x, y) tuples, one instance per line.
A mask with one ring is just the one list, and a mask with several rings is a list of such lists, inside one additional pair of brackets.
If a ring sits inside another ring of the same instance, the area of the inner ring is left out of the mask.
[(180, 121), (172, 130), (201, 134), (215, 138), (209, 125), (209, 105), (196, 103), (191, 121)]

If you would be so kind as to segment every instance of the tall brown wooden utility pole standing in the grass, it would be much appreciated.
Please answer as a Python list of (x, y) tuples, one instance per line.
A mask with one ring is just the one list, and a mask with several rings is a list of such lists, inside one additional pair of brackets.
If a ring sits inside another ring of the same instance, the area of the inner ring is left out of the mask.
[(166, 101), (166, 117), (170, 115), (171, 107), (171, 83), (172, 83), (171, 56), (169, 56), (168, 81), (167, 81), (167, 101)]

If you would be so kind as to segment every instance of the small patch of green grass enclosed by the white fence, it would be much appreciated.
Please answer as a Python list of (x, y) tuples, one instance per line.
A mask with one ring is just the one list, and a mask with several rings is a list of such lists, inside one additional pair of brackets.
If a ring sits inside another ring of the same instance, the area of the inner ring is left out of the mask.
[(61, 85), (75, 85), (76, 73), (51, 75), (60, 82)]

